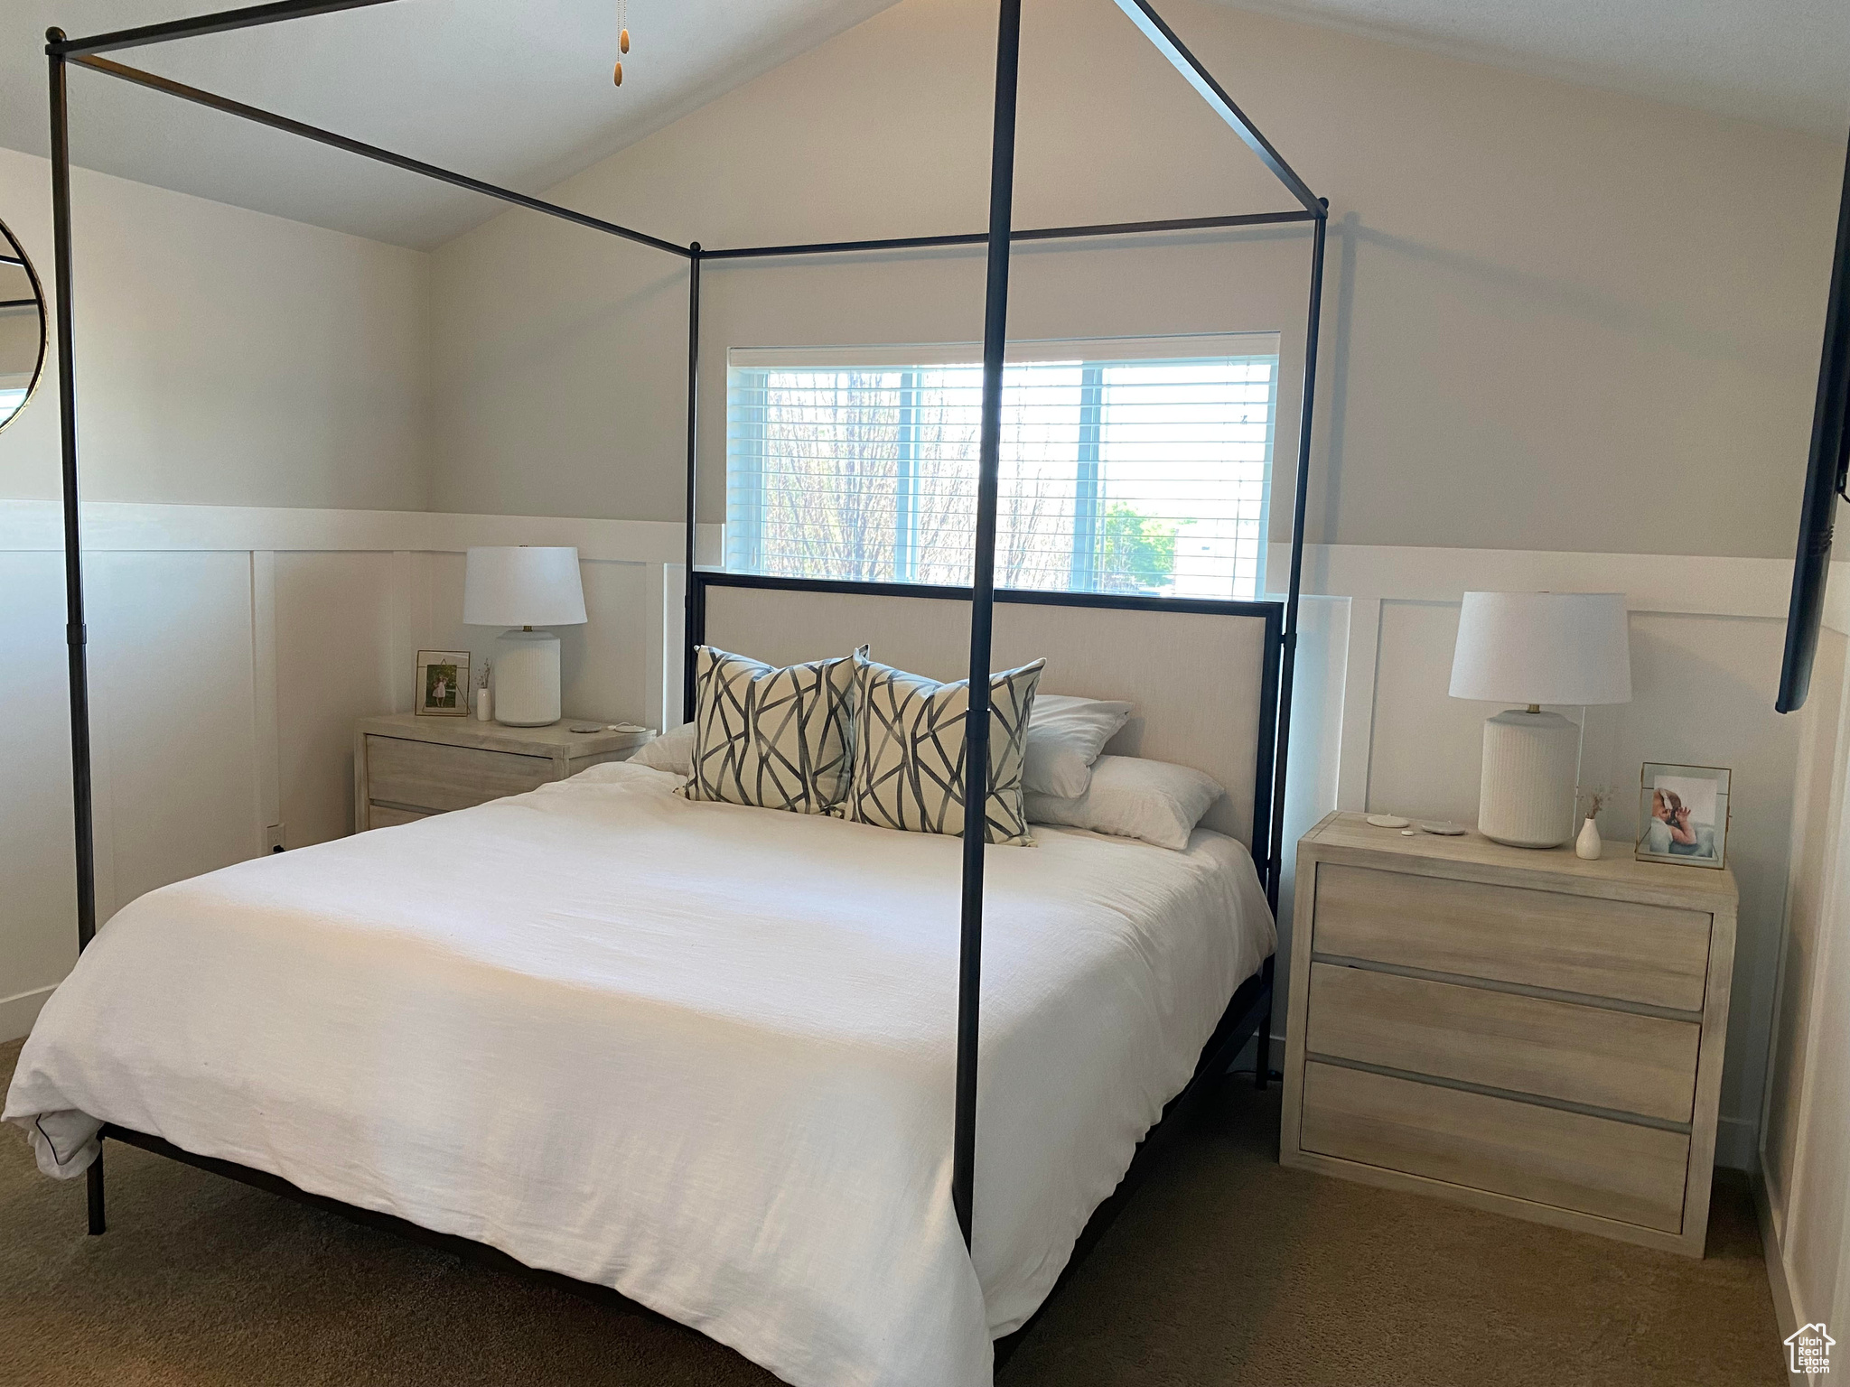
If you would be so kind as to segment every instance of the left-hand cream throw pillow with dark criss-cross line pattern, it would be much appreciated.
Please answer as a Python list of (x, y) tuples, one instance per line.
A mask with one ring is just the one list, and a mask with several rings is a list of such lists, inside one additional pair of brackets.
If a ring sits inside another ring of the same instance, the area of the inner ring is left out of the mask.
[(840, 803), (855, 756), (847, 657), (779, 669), (699, 645), (694, 662), (694, 775), (675, 793), (792, 814)]

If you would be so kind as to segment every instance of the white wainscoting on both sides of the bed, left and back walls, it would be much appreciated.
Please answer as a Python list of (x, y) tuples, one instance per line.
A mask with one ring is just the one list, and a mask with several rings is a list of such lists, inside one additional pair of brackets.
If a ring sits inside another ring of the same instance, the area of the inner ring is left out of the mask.
[[(352, 829), (352, 723), (411, 706), (420, 647), (492, 657), (464, 627), (470, 544), (575, 544), (590, 621), (562, 632), (566, 710), (679, 721), (681, 527), (426, 512), (87, 507), (96, 669), (98, 882), (107, 917), (179, 877)], [(0, 501), (0, 610), (20, 695), (0, 803), (0, 1036), (24, 1034), (74, 958), (57, 507)], [(701, 555), (716, 557), (718, 527)], [(1282, 573), (1284, 551), (1271, 555)], [(1465, 588), (1622, 590), (1637, 697), (1585, 718), (1584, 782), (1630, 851), (1646, 756), (1735, 771), (1741, 947), (1719, 1160), (1754, 1161), (1778, 975), (1798, 729), (1772, 712), (1789, 566), (1491, 549), (1317, 547), (1293, 699), (1291, 853), (1336, 806), (1473, 819), (1487, 705), (1447, 697)], [(1580, 716), (1580, 710), (1567, 710)], [(1284, 1034), (1284, 1008), (1275, 1034)]]

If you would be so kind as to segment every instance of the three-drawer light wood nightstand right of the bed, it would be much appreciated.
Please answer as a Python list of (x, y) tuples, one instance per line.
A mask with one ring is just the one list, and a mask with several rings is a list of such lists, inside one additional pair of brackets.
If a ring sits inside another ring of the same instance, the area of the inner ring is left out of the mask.
[(1606, 851), (1304, 834), (1278, 1160), (1700, 1258), (1733, 873)]

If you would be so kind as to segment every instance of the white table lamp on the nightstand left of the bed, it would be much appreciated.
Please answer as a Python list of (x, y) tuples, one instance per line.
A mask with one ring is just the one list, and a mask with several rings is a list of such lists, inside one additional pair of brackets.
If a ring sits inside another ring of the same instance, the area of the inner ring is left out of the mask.
[(494, 719), (509, 727), (557, 723), (559, 636), (542, 627), (585, 621), (577, 549), (470, 549), (462, 573), (462, 621), (511, 627), (494, 653)]

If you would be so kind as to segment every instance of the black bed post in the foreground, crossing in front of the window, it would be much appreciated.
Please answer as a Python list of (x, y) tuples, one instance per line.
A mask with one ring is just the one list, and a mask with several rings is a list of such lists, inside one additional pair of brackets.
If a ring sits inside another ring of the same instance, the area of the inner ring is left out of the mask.
[(1003, 451), (1003, 353), (1008, 348), (1008, 250), (1016, 194), (1016, 76), (1021, 0), (1003, 0), (995, 37), (995, 131), (990, 141), (990, 274), (982, 300), (982, 433), (977, 446), (977, 536), (969, 575), (969, 712), (964, 716), (964, 921), (956, 969), (956, 1130), (951, 1208), (971, 1241), (977, 1180), (977, 1032), (982, 1010), (982, 849), (990, 801), (990, 636), (995, 621), (995, 494)]

